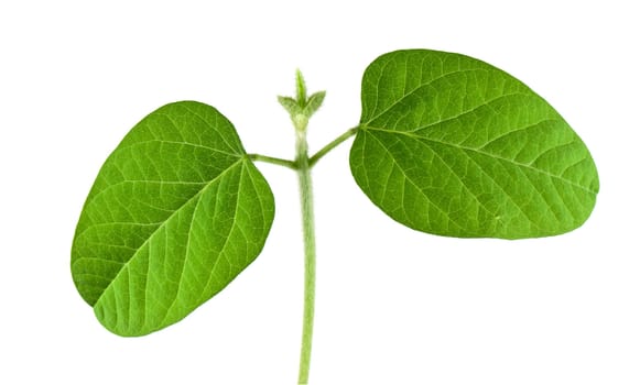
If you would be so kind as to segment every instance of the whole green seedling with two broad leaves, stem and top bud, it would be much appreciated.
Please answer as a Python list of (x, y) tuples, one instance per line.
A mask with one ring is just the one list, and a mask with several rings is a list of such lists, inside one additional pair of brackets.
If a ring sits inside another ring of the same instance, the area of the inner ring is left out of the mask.
[(311, 169), (355, 136), (349, 166), (395, 221), (431, 234), (523, 239), (562, 234), (589, 217), (594, 161), (540, 96), (507, 73), (452, 53), (410, 50), (373, 61), (359, 123), (316, 154), (307, 124), (324, 92), (280, 97), (296, 135), (294, 160), (245, 151), (215, 108), (180, 101), (151, 112), (101, 167), (83, 208), (72, 273), (98, 320), (143, 336), (186, 317), (261, 252), (273, 220), (256, 162), (297, 174), (305, 294), (299, 383), (311, 365), (315, 239)]

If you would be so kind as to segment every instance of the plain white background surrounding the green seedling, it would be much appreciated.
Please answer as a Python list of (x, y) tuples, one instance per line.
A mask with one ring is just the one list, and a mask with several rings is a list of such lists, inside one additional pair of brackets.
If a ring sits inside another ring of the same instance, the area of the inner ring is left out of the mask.
[[(217, 3), (217, 4), (216, 4)], [(0, 383), (294, 384), (302, 318), (295, 175), (262, 254), (184, 321), (110, 334), (69, 249), (107, 155), (171, 101), (210, 103), (249, 152), (291, 157), (275, 95), (326, 89), (312, 151), (357, 124), (378, 55), (465, 53), (545, 97), (588, 144), (589, 221), (540, 240), (457, 240), (386, 218), (348, 168), (314, 169), (313, 384), (639, 384), (639, 12), (632, 1), (13, 1), (0, 6)]]

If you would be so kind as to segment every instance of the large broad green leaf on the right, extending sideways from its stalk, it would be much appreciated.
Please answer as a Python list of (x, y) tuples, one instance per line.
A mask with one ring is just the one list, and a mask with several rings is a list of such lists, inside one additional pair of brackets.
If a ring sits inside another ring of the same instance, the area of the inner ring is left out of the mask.
[(377, 58), (362, 78), (351, 173), (382, 211), (448, 237), (520, 239), (579, 227), (598, 193), (592, 156), (540, 96), (478, 59)]

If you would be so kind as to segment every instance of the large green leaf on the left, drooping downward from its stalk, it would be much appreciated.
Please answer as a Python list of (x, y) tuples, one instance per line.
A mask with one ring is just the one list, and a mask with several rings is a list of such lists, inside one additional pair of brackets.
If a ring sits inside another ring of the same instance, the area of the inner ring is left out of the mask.
[(207, 105), (166, 105), (100, 169), (74, 238), (74, 283), (110, 331), (153, 332), (256, 258), (273, 211), (271, 189), (234, 125)]

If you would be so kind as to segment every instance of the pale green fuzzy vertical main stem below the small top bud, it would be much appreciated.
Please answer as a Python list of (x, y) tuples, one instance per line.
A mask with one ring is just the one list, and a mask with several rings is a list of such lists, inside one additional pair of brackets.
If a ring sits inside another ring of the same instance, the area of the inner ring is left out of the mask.
[(315, 230), (313, 216), (313, 190), (306, 131), (296, 130), (296, 165), (302, 205), (302, 228), (304, 235), (304, 312), (302, 321), (302, 344), (300, 350), (299, 384), (306, 384), (311, 365), (313, 340), (313, 316), (315, 302)]

